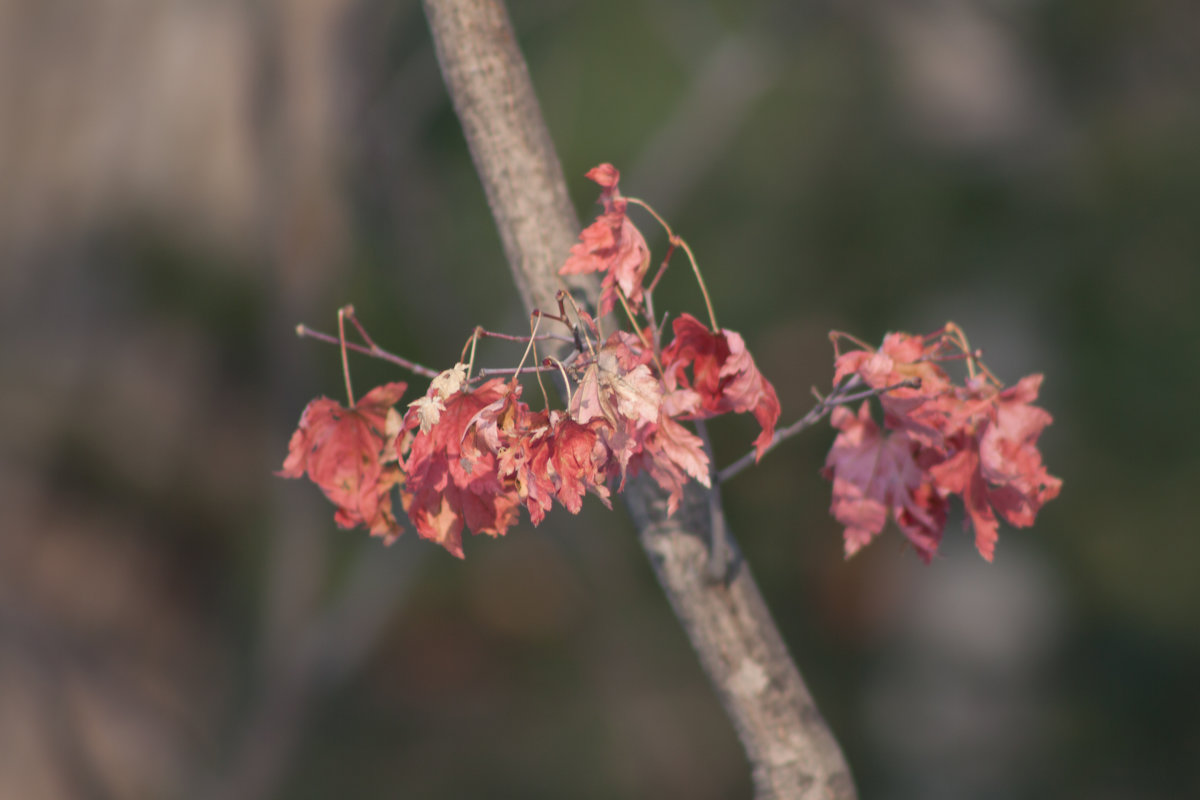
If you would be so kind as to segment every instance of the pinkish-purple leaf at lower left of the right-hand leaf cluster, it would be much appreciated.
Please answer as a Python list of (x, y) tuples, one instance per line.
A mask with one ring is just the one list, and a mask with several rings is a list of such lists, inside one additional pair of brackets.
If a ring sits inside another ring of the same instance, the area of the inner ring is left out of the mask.
[(946, 527), (946, 499), (918, 463), (919, 445), (906, 433), (883, 435), (868, 403), (858, 414), (834, 409), (840, 431), (822, 474), (833, 479), (830, 513), (846, 525), (846, 557), (868, 545), (890, 516), (928, 564)]

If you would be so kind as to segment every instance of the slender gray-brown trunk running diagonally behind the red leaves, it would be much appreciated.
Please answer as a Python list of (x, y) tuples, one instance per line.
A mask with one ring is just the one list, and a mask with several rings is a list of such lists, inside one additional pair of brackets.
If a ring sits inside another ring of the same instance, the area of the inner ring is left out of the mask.
[[(528, 308), (554, 308), (557, 267), (578, 234), (558, 156), (499, 0), (425, 0), (438, 61), (514, 279)], [(595, 285), (590, 288), (595, 299)], [(750, 759), (755, 796), (856, 796), (838, 742), (787, 654), (750, 570), (730, 539), (725, 582), (706, 565), (716, 491), (696, 486), (673, 517), (653, 481), (625, 497), (642, 546)]]

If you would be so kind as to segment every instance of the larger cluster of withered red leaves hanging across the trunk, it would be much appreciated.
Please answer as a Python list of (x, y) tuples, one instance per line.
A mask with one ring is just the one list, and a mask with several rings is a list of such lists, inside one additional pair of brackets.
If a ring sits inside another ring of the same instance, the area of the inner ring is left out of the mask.
[[(602, 188), (604, 212), (560, 272), (604, 272), (601, 314), (620, 296), (637, 313), (649, 248), (625, 216), (616, 168), (601, 164), (588, 176)], [(607, 505), (638, 471), (668, 493), (674, 513), (688, 481), (707, 487), (712, 474), (703, 440), (683, 421), (749, 413), (762, 426), (758, 456), (770, 444), (779, 398), (740, 336), (684, 314), (659, 353), (646, 332), (600, 342), (590, 317), (581, 317), (586, 347), (564, 366), (572, 384), (564, 410), (532, 409), (515, 378), (473, 385), (457, 365), (403, 415), (391, 408), (403, 384), (377, 389), (350, 410), (313, 401), (281, 475), (307, 473), (337, 506), (340, 525), (366, 524), (389, 540), (400, 534), (389, 494), (400, 486), (416, 533), (462, 558), (464, 528), (500, 536), (521, 507), (536, 525), (554, 501), (578, 513), (589, 492)]]

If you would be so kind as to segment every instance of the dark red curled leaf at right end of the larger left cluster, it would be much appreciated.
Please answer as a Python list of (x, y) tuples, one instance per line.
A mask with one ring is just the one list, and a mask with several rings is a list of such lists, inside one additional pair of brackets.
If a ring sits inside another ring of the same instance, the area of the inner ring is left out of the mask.
[[(724, 329), (714, 333), (686, 313), (677, 317), (672, 327), (674, 339), (662, 350), (662, 369), (668, 389), (678, 384), (700, 395), (700, 410), (685, 419), (749, 411), (762, 427), (762, 433), (754, 441), (756, 456), (762, 458), (775, 435), (779, 396), (758, 372), (742, 336)], [(690, 381), (688, 367), (692, 372)]]

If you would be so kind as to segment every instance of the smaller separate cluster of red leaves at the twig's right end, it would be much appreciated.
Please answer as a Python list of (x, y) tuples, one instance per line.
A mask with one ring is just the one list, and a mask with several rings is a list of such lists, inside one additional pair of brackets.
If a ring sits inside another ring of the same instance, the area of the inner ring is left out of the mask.
[[(1038, 510), (1057, 497), (1062, 481), (1046, 473), (1037, 449), (1050, 414), (1033, 405), (1042, 375), (1002, 389), (985, 371), (961, 385), (938, 362), (967, 360), (956, 329), (929, 337), (889, 333), (878, 350), (839, 355), (834, 384), (857, 377), (882, 390), (881, 428), (864, 402), (830, 417), (840, 432), (826, 461), (833, 479), (833, 516), (846, 525), (846, 555), (871, 541), (890, 516), (926, 563), (937, 552), (950, 495), (959, 495), (976, 547), (991, 560), (997, 515), (1009, 524), (1033, 524)], [(836, 339), (835, 339), (836, 341)]]

